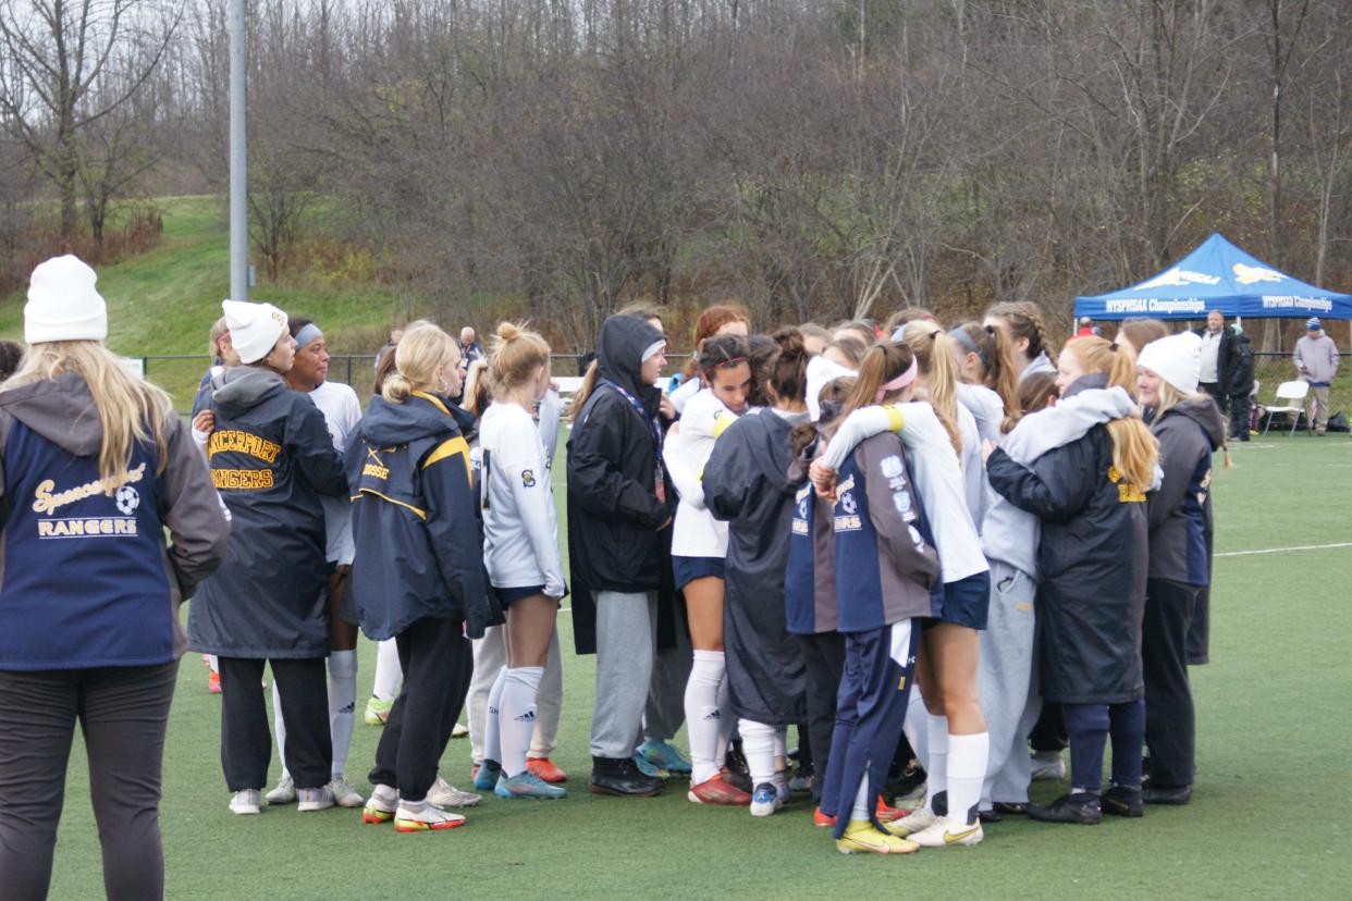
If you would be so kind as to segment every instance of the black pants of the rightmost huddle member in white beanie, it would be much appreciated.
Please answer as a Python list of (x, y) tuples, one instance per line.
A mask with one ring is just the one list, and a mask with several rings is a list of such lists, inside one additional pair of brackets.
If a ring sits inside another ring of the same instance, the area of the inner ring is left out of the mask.
[(1187, 678), (1188, 623), (1198, 588), (1165, 580), (1145, 584), (1141, 663), (1145, 670), (1145, 744), (1151, 782), (1192, 785), (1197, 723)]

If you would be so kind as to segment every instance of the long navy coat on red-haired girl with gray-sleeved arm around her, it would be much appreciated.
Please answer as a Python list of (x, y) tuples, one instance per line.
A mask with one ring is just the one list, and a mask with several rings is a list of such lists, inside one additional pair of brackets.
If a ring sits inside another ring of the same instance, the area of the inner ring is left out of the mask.
[(996, 448), (986, 469), (1000, 496), (1042, 521), (1037, 557), (1042, 698), (1064, 704), (1140, 698), (1149, 486), (1133, 485), (1114, 469), (1106, 426), (1048, 451), (1032, 467)]

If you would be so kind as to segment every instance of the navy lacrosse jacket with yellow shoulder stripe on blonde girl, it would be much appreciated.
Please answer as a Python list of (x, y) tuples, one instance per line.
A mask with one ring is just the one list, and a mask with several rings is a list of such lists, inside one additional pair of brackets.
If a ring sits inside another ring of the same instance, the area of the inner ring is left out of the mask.
[(373, 397), (347, 444), (353, 601), (368, 638), (395, 638), (425, 619), (464, 620), (483, 638), (489, 617), (469, 446), (450, 401), (414, 392)]

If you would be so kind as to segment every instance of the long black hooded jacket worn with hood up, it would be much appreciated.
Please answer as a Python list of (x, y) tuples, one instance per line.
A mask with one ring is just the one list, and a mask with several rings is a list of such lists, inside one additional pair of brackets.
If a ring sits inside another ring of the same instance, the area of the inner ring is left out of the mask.
[[(661, 592), (671, 585), (676, 492), (661, 458), (661, 389), (644, 385), (644, 351), (662, 334), (635, 316), (611, 316), (596, 347), (599, 380), (568, 439), (568, 557), (575, 642), (595, 651), (592, 592)], [(625, 389), (642, 407), (608, 386)], [(665, 497), (657, 494), (662, 480)]]

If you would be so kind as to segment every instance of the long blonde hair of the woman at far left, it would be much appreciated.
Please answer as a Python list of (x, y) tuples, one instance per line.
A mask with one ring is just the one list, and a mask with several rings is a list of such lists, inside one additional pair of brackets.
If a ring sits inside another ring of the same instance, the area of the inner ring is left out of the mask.
[(153, 440), (160, 458), (155, 474), (165, 470), (169, 457), (165, 427), (173, 416), (173, 401), (160, 388), (123, 369), (122, 361), (99, 342), (54, 340), (32, 344), (19, 370), (0, 390), (65, 374), (84, 378), (103, 426), (99, 477), (103, 480), (104, 494), (112, 494), (126, 484), (132, 442)]

